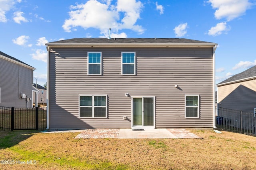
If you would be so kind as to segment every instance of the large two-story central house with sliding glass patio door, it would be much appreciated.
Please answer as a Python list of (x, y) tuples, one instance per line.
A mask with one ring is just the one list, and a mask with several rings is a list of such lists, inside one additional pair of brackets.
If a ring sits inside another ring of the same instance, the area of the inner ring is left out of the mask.
[(74, 38), (46, 45), (48, 129), (215, 127), (216, 43)]

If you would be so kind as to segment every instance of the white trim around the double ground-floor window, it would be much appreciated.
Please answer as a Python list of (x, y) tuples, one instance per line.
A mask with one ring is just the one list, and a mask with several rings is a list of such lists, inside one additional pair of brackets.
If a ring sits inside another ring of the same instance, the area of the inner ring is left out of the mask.
[[(82, 107), (92, 107), (92, 117), (80, 117), (80, 96), (91, 96), (92, 97), (92, 106), (82, 106)], [(94, 117), (94, 107), (101, 107), (101, 106), (94, 106), (94, 96), (105, 96), (106, 97), (106, 116), (105, 117)], [(107, 118), (107, 113), (108, 113), (108, 98), (107, 98), (107, 95), (101, 95), (101, 94), (99, 94), (99, 95), (97, 95), (97, 94), (81, 94), (81, 95), (79, 95), (79, 97), (78, 97), (78, 102), (79, 102), (79, 113), (78, 113), (78, 115), (79, 115), (79, 118), (81, 118), (81, 119), (83, 119), (83, 118), (86, 118), (86, 119), (102, 119), (102, 118)]]

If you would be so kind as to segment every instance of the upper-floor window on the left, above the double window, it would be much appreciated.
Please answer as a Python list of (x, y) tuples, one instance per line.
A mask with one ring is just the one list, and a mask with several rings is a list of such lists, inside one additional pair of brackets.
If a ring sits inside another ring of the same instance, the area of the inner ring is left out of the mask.
[(101, 75), (101, 58), (101, 52), (87, 53), (88, 75)]

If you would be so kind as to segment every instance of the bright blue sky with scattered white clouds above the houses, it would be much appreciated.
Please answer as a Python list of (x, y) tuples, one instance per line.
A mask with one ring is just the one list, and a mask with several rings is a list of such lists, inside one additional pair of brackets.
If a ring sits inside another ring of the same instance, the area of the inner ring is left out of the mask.
[[(188, 38), (218, 43), (216, 83), (256, 65), (256, 0), (0, 0), (0, 51), (46, 83), (44, 43)], [(34, 79), (36, 81), (36, 79)]]

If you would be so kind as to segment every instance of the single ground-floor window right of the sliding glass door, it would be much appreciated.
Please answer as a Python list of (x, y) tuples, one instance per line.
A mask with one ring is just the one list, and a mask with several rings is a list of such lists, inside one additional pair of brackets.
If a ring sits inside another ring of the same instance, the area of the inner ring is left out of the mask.
[(199, 117), (199, 95), (185, 95), (185, 117)]

